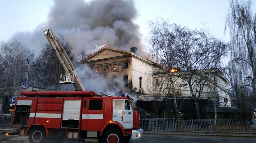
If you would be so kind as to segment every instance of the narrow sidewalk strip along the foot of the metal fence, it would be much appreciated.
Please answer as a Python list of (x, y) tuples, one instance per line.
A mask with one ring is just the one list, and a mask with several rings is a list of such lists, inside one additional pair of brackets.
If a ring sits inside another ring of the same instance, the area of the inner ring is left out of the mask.
[(256, 138), (256, 134), (228, 134), (228, 133), (204, 133), (204, 132), (170, 132), (170, 131), (144, 131), (144, 135), (163, 136), (213, 136), (213, 137), (246, 137)]

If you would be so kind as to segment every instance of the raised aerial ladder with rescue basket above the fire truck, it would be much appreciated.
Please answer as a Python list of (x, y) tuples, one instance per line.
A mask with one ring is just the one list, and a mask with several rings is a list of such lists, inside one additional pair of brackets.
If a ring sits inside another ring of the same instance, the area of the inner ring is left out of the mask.
[(74, 84), (75, 90), (77, 91), (84, 91), (85, 87), (79, 78), (75, 67), (73, 66), (69, 56), (63, 46), (61, 45), (59, 39), (54, 35), (51, 29), (47, 29), (44, 31), (44, 35), (46, 36), (47, 40), (49, 41), (52, 49), (54, 50), (55, 54), (57, 55), (62, 67), (65, 70), (65, 74), (60, 75), (59, 83), (60, 84)]

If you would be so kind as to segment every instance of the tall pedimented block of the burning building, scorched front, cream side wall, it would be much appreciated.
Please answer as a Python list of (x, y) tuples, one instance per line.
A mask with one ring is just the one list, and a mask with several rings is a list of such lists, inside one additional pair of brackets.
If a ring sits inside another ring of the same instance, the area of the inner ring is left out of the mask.
[(152, 86), (148, 83), (152, 81), (155, 63), (138, 55), (136, 47), (125, 51), (104, 46), (80, 62), (86, 63), (92, 72), (108, 79), (122, 79), (125, 87), (131, 91), (151, 94)]

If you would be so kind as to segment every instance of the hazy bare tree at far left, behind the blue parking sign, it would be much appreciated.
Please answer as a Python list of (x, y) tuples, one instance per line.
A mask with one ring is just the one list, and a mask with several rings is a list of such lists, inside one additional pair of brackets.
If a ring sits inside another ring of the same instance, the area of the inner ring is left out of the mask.
[(34, 54), (23, 43), (13, 39), (7, 43), (3, 43), (0, 47), (0, 106), (5, 103), (5, 98), (10, 98), (14, 94), (14, 88), (21, 86), (22, 82), (26, 82), (27, 61), (34, 60)]

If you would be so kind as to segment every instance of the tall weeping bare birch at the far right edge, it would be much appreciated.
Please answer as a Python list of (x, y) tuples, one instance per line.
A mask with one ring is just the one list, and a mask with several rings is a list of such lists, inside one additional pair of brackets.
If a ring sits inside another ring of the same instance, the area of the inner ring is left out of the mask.
[(231, 0), (226, 27), (230, 29), (229, 78), (236, 99), (256, 96), (256, 14), (251, 0)]

